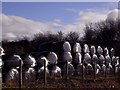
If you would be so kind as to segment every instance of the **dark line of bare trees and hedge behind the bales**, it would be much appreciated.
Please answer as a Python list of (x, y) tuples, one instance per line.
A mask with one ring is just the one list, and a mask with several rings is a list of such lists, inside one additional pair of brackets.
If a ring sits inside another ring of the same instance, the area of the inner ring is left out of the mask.
[(11, 42), (3, 40), (1, 43), (7, 54), (37, 52), (41, 44), (67, 40), (69, 42), (113, 47), (116, 50), (116, 55), (120, 56), (120, 20), (105, 20), (97, 23), (89, 23), (86, 24), (84, 30), (85, 35), (82, 38), (80, 38), (79, 33), (74, 31), (68, 34), (59, 31), (56, 34), (50, 32), (46, 34), (37, 33), (32, 40), (29, 40), (28, 37), (23, 37), (20, 40)]

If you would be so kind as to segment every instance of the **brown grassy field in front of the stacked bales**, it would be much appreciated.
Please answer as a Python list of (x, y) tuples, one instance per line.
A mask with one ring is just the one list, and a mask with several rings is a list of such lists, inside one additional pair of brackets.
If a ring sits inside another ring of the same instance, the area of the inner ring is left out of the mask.
[[(9, 82), (3, 84), (3, 90), (18, 90), (19, 83)], [(65, 78), (49, 78), (47, 79), (47, 84), (44, 85), (43, 80), (35, 82), (23, 82), (22, 90), (93, 90), (93, 89), (102, 89), (102, 90), (120, 90), (120, 77), (117, 76), (84, 76), (84, 79), (76, 76), (68, 78), (67, 81)]]

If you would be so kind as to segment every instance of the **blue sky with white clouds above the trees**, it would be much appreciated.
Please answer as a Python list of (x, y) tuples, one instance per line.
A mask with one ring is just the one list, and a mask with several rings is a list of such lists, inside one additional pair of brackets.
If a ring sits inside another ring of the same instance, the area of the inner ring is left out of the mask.
[(84, 26), (118, 15), (116, 2), (2, 2), (2, 38), (14, 40), (47, 31), (84, 35)]

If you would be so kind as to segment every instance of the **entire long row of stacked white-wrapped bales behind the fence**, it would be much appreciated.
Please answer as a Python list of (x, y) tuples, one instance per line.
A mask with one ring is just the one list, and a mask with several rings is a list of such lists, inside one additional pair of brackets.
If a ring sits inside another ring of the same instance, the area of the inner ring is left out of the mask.
[[(0, 47), (3, 63), (3, 82), (19, 81), (22, 61), (23, 81), (41, 80), (46, 77), (74, 77), (75, 75), (117, 74), (120, 59), (114, 48), (81, 43), (55, 42), (40, 46), (38, 52), (23, 55), (5, 55)], [(44, 73), (45, 72), (45, 73)]]

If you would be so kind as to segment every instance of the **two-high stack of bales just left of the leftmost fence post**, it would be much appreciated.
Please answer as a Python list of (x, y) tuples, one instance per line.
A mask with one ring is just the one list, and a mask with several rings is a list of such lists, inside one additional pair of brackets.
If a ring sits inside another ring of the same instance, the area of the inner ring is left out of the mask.
[(18, 70), (20, 66), (20, 61), (22, 60), (20, 56), (19, 55), (4, 55), (2, 56), (2, 59), (4, 63), (3, 68), (2, 68), (3, 82), (8, 82), (8, 81), (18, 82), (18, 79), (19, 79)]

